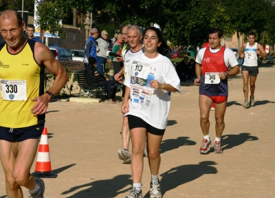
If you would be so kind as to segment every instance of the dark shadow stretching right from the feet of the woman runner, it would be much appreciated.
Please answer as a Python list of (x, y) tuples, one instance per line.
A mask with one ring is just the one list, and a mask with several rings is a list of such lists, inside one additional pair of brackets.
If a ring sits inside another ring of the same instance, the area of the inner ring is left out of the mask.
[[(189, 181), (193, 181), (202, 175), (218, 173), (217, 168), (214, 168), (212, 165), (216, 165), (216, 163), (212, 161), (204, 161), (199, 164), (177, 166), (162, 173), (162, 175), (160, 175), (162, 176), (162, 180), (160, 181), (162, 195), (165, 195), (167, 191), (173, 190), (174, 188), (177, 188), (177, 186), (186, 184)], [(147, 192), (144, 198), (145, 197), (150, 197), (150, 192)]]

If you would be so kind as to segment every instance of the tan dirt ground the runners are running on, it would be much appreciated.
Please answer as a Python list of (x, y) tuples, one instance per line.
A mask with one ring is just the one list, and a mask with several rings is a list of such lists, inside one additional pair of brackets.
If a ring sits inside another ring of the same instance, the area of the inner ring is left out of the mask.
[[(168, 127), (161, 146), (159, 170), (163, 197), (275, 197), (275, 67), (260, 67), (254, 107), (243, 108), (241, 74), (229, 79), (228, 108), (222, 136), (223, 153), (199, 154), (198, 87), (184, 83), (172, 94)], [(120, 104), (50, 102), (46, 124), (52, 171), (44, 179), (45, 197), (125, 197), (131, 189), (131, 165), (117, 157), (122, 146)], [(210, 112), (214, 140), (214, 111)], [(130, 149), (131, 150), (131, 149)], [(35, 168), (32, 166), (32, 172)], [(31, 172), (31, 173), (32, 173)], [(151, 181), (144, 157), (142, 191)], [(23, 188), (25, 197), (27, 190)], [(5, 197), (0, 170), (0, 198)]]

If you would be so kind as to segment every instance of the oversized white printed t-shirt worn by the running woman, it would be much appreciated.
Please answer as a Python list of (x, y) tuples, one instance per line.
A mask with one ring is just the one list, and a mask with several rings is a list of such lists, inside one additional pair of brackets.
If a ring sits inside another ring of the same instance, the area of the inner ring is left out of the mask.
[(170, 84), (181, 92), (179, 77), (171, 61), (159, 54), (147, 58), (144, 54), (129, 61), (124, 85), (130, 87), (129, 112), (157, 129), (166, 129), (170, 109), (170, 91), (153, 89), (151, 80)]

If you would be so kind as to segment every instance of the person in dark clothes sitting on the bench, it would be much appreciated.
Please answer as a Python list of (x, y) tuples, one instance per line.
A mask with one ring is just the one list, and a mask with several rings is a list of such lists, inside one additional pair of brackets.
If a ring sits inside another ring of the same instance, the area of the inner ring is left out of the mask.
[(106, 87), (107, 88), (107, 100), (110, 104), (115, 104), (116, 102), (120, 102), (119, 100), (115, 100), (116, 89), (118, 87), (118, 82), (116, 80), (109, 80), (98, 72), (96, 68), (96, 58), (93, 56), (89, 57), (89, 64), (84, 70), (84, 77), (87, 82), (87, 85), (91, 87), (91, 89), (96, 89), (98, 87)]

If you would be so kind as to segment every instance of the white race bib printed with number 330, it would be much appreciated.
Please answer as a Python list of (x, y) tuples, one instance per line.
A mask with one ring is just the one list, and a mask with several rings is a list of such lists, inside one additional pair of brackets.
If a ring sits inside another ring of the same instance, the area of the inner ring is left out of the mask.
[(1, 79), (1, 98), (3, 100), (27, 100), (26, 80)]

